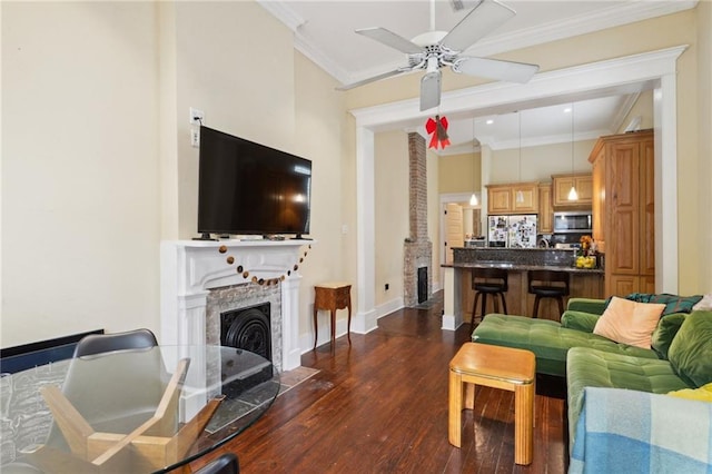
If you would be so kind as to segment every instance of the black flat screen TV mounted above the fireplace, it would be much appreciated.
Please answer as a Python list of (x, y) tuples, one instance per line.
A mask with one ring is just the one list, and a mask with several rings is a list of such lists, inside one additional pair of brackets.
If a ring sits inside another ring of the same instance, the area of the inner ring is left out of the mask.
[(312, 161), (200, 127), (198, 233), (309, 234)]

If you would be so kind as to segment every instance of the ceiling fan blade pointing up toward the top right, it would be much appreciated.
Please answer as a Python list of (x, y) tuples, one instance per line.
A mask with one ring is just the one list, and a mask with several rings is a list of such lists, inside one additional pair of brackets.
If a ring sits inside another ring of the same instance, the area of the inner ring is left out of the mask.
[(516, 12), (495, 0), (482, 0), (441, 41), (453, 51), (464, 51), (484, 38)]

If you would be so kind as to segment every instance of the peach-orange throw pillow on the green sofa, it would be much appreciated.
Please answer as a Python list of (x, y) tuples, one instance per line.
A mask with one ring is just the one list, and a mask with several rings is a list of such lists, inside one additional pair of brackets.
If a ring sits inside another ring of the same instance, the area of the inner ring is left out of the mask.
[(651, 336), (665, 305), (637, 303), (614, 296), (596, 322), (593, 334), (616, 343), (650, 349)]

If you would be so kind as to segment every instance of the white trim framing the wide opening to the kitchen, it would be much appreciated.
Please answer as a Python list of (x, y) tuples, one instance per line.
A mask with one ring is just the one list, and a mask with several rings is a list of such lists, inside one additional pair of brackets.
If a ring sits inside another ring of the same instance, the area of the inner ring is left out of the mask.
[[(584, 100), (611, 93), (654, 89), (655, 199), (668, 205), (655, 210), (656, 290), (678, 293), (678, 116), (676, 61), (686, 45), (626, 56), (583, 66), (541, 72), (526, 85), (488, 83), (443, 93), (441, 115), (486, 115), (514, 108), (538, 107), (562, 101)], [(352, 110), (356, 119), (356, 201), (357, 205), (357, 282), (356, 326), (376, 327), (375, 320), (375, 199), (374, 134), (405, 129), (418, 111), (418, 99)], [(665, 180), (662, 180), (662, 176)], [(660, 197), (660, 200), (657, 198)], [(446, 315), (447, 316), (447, 315)]]

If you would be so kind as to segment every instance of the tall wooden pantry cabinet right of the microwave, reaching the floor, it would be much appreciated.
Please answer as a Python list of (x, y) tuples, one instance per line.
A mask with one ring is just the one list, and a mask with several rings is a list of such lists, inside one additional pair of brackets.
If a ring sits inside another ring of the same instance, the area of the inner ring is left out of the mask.
[(652, 130), (601, 137), (593, 165), (593, 237), (605, 254), (605, 294), (655, 292)]

